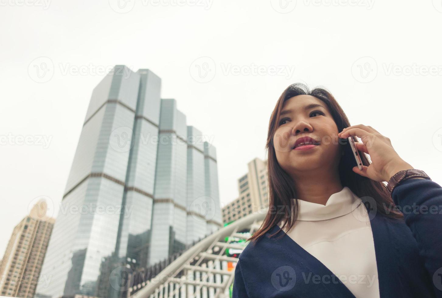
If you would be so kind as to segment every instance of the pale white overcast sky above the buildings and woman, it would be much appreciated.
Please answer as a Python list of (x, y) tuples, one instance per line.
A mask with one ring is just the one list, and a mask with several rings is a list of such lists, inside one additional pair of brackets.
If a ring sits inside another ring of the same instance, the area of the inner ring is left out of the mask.
[[(0, 0), (0, 135), (50, 143), (0, 145), (0, 257), (34, 198), (61, 202), (92, 89), (103, 78), (97, 67), (148, 68), (162, 78), (162, 98), (175, 98), (187, 124), (213, 138), (223, 205), (237, 197), (247, 163), (265, 158), (271, 111), (295, 82), (328, 88), (352, 125), (373, 126), (442, 183), (440, 1), (130, 0), (126, 13), (112, 9), (114, 0), (20, 1)], [(53, 63), (44, 83), (35, 81), (38, 57)], [(195, 64), (209, 65), (208, 76), (198, 78)], [(74, 72), (89, 65), (84, 75)], [(226, 73), (229, 65), (268, 73)], [(272, 75), (272, 67), (294, 70)]]

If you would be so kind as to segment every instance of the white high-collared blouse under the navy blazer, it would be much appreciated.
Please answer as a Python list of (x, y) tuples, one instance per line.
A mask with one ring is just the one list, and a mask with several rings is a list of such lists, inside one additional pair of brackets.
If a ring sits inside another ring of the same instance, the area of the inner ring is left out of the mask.
[(284, 227), (287, 235), (328, 267), (354, 296), (379, 298), (373, 234), (361, 199), (343, 187), (326, 205), (298, 202), (295, 225), (288, 232)]

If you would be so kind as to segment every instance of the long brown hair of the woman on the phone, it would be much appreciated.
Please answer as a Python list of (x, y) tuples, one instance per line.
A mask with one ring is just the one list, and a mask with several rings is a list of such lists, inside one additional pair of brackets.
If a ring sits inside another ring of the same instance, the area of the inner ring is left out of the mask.
[[(287, 225), (287, 230), (292, 228), (297, 219), (299, 206), (297, 200), (293, 199), (296, 198), (293, 179), (278, 164), (273, 145), (273, 137), (275, 131), (278, 129), (276, 122), (278, 121), (283, 103), (287, 99), (298, 95), (314, 96), (326, 103), (339, 132), (350, 126), (350, 122), (348, 121), (348, 118), (342, 108), (339, 106), (339, 103), (337, 103), (336, 99), (325, 88), (314, 88), (312, 91), (310, 91), (309, 88), (304, 84), (297, 83), (290, 85), (286, 88), (286, 90), (284, 90), (284, 92), (282, 92), (270, 116), (267, 143), (265, 146), (265, 149), (268, 150), (267, 171), (269, 210), (263, 224), (248, 239), (248, 241), (252, 241), (254, 243), (256, 243), (265, 233), (267, 233), (267, 231), (272, 229), (274, 225), (278, 224), (282, 218), (286, 218), (282, 228)], [(354, 141), (357, 141), (355, 137), (353, 137), (353, 139)], [(382, 182), (373, 181), (353, 172), (352, 168), (356, 165), (356, 162), (354, 161), (351, 151), (348, 151), (348, 145), (345, 143), (341, 144), (341, 142), (339, 142), (339, 145), (344, 146), (341, 148), (341, 152), (347, 153), (341, 156), (341, 160), (339, 162), (339, 177), (343, 187), (347, 186), (350, 188), (350, 190), (353, 191), (353, 193), (359, 198), (364, 196), (373, 198), (377, 205), (377, 211), (379, 211), (382, 215), (390, 218), (404, 218), (404, 214), (402, 214), (399, 210), (394, 209), (395, 203), (392, 201), (390, 193), (385, 184)], [(366, 153), (360, 151), (358, 151), (358, 153), (361, 157), (362, 164), (366, 166), (370, 165), (371, 161)], [(284, 206), (284, 212), (274, 212), (275, 210), (278, 211), (278, 206)], [(392, 206), (392, 208), (388, 208), (388, 206)], [(293, 210), (293, 212), (291, 212), (291, 210)], [(281, 230), (278, 230), (278, 232), (280, 231)], [(270, 237), (277, 233), (271, 234)], [(282, 234), (282, 236), (284, 236), (284, 234)]]

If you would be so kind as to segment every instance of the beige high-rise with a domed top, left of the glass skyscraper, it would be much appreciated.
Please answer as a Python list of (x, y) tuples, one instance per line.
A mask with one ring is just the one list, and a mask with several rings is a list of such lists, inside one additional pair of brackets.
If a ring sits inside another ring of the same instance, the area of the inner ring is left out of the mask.
[[(46, 216), (47, 203), (39, 200), (15, 226), (0, 264), (0, 295), (34, 297), (54, 218)], [(48, 281), (47, 276), (41, 279)]]

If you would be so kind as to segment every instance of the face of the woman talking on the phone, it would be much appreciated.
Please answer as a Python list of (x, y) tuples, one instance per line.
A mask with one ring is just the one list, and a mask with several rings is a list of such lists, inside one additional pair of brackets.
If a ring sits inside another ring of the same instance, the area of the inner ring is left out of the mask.
[[(338, 127), (322, 100), (310, 95), (287, 99), (276, 127), (273, 138), (276, 159), (287, 173), (337, 168), (341, 156)], [(293, 149), (301, 137), (311, 137), (319, 145), (305, 150)]]

